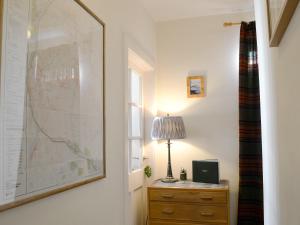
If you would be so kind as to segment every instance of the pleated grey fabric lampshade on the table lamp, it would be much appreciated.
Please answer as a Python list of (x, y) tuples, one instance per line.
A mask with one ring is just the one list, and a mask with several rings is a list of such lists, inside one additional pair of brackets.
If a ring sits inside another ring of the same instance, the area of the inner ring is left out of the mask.
[(152, 123), (151, 137), (153, 140), (184, 139), (186, 133), (182, 117), (155, 117)]

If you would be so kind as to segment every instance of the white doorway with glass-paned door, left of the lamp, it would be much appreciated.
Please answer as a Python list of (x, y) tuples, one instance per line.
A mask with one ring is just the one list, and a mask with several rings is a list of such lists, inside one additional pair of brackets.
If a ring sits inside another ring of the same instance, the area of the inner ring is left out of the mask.
[(133, 41), (125, 41), (125, 224), (144, 225), (147, 194), (144, 167), (153, 168), (150, 130), (154, 115), (155, 76), (151, 58)]

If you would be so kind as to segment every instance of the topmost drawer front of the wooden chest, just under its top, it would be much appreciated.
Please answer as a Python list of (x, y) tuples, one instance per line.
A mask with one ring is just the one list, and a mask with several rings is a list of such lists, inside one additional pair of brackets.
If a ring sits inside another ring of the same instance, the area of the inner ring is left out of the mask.
[(195, 191), (195, 190), (149, 190), (150, 201), (165, 202), (197, 202), (197, 203), (226, 203), (225, 191)]

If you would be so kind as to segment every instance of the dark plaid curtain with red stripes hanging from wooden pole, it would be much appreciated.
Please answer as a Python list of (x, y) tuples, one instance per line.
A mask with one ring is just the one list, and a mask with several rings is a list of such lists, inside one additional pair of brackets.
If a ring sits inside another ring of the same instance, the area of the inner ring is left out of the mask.
[(262, 144), (255, 22), (243, 22), (241, 25), (239, 79), (238, 225), (263, 225)]

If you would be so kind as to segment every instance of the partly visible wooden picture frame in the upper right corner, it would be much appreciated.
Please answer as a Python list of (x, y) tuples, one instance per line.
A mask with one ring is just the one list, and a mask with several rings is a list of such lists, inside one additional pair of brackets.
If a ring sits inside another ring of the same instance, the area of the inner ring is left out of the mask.
[(299, 0), (266, 0), (270, 46), (278, 47), (294, 15)]

